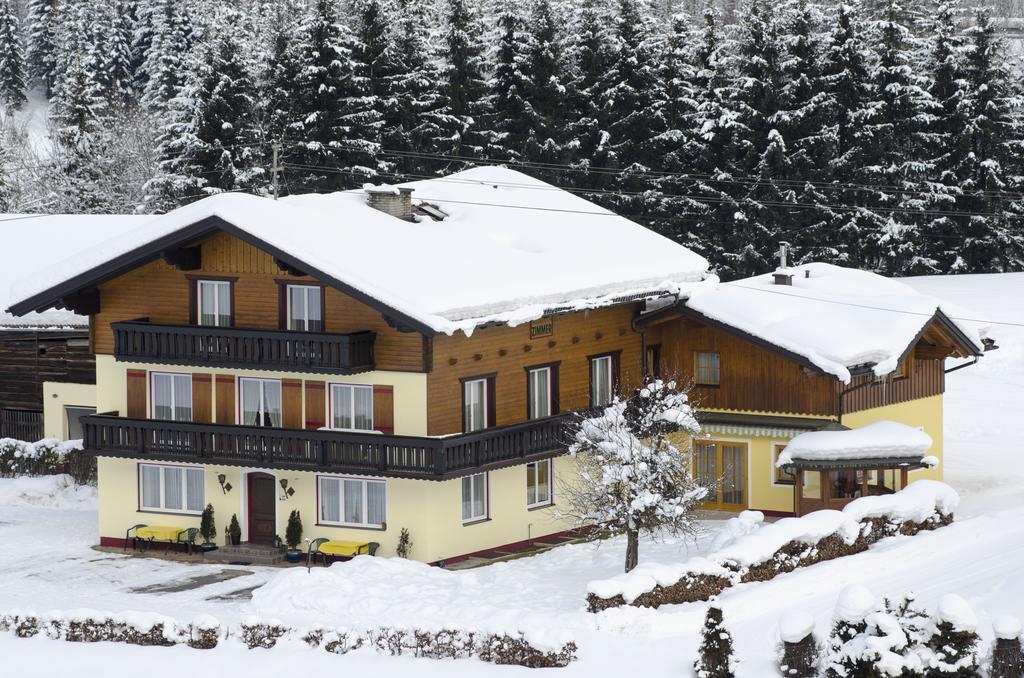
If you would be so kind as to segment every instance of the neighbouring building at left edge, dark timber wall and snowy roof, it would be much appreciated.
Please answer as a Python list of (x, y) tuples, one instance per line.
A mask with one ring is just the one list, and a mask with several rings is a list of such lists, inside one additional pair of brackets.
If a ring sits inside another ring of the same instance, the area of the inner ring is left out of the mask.
[[(22, 317), (3, 312), (7, 292), (77, 251), (139, 225), (145, 217), (0, 214), (0, 438), (82, 437), (79, 417), (94, 412), (95, 365), (89, 319), (67, 309)], [(44, 411), (49, 411), (44, 429)]]

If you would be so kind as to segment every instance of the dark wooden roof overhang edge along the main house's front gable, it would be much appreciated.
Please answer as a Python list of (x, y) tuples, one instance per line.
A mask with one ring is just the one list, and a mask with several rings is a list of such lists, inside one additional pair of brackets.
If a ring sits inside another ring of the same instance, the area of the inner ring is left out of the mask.
[(433, 336), (437, 334), (433, 328), (422, 321), (419, 321), (381, 302), (379, 299), (370, 296), (361, 290), (353, 288), (337, 278), (325, 273), (323, 270), (309, 265), (289, 252), (256, 238), (245, 228), (239, 227), (218, 216), (209, 216), (204, 219), (200, 219), (199, 221), (190, 223), (182, 228), (178, 228), (171, 234), (150, 241), (148, 243), (129, 252), (113, 257), (98, 266), (90, 268), (89, 270), (79, 273), (78, 276), (75, 276), (58, 285), (54, 285), (51, 288), (12, 304), (8, 310), (13, 315), (25, 315), (26, 313), (30, 313), (32, 311), (42, 311), (48, 308), (61, 307), (68, 303), (66, 301), (67, 299), (72, 298), (75, 295), (95, 290), (97, 286), (102, 285), (103, 283), (114, 280), (119, 276), (123, 276), (124, 273), (133, 270), (142, 264), (148, 263), (150, 261), (159, 259), (183, 246), (187, 246), (196, 241), (208, 238), (218, 231), (233, 236), (239, 240), (249, 243), (253, 247), (263, 250), (267, 254), (274, 257), (274, 259), (276, 259), (280, 263), (284, 264), (283, 267), (286, 267), (290, 271), (305, 272), (322, 283), (330, 285), (353, 299), (365, 303), (371, 308), (380, 311), (390, 324), (400, 329), (409, 329), (419, 332), (425, 336)]

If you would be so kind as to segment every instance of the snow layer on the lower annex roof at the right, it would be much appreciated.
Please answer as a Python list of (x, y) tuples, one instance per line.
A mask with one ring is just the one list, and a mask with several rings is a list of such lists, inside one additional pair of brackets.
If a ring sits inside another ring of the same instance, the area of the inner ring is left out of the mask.
[(896, 370), (899, 358), (937, 310), (950, 316), (980, 352), (988, 328), (957, 321), (965, 313), (899, 281), (855, 268), (809, 263), (787, 269), (793, 285), (756, 276), (695, 290), (686, 305), (797, 353), (849, 383), (850, 370)]

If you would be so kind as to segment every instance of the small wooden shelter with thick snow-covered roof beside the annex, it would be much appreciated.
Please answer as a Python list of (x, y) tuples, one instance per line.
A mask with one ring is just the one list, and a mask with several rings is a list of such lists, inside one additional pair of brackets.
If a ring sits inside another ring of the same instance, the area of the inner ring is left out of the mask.
[(938, 459), (926, 456), (931, 447), (932, 437), (920, 428), (879, 421), (856, 429), (837, 426), (801, 433), (776, 465), (796, 476), (794, 510), (804, 515), (902, 490), (911, 469), (938, 464)]

